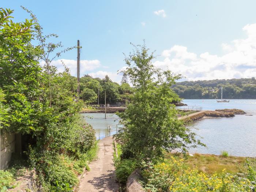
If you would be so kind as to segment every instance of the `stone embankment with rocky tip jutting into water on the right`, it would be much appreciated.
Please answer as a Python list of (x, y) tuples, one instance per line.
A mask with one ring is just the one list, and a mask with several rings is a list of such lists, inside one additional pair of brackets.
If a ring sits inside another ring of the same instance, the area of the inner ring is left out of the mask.
[(215, 111), (204, 110), (187, 116), (179, 117), (180, 120), (185, 122), (196, 121), (203, 117), (234, 117), (235, 114), (246, 114), (240, 109), (216, 109)]

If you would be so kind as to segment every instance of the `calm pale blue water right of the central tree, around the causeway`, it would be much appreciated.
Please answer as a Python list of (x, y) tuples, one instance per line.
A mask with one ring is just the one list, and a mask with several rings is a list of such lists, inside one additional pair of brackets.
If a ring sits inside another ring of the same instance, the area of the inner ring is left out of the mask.
[(191, 153), (220, 154), (256, 157), (256, 99), (231, 99), (229, 103), (217, 103), (216, 99), (184, 99), (189, 106), (202, 106), (203, 110), (242, 109), (253, 116), (236, 115), (230, 118), (207, 118), (189, 126), (203, 137), (207, 145), (191, 149)]

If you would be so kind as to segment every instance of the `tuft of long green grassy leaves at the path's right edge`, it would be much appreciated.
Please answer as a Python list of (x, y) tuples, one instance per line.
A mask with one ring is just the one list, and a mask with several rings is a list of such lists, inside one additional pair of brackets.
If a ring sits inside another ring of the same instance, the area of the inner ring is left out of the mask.
[(116, 166), (116, 177), (120, 182), (126, 182), (136, 167), (137, 163), (135, 159), (123, 159)]

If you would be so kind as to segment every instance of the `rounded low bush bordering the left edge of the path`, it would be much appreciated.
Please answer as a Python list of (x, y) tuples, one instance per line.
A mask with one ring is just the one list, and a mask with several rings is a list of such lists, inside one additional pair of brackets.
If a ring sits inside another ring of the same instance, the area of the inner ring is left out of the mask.
[(92, 127), (78, 116), (72, 122), (53, 123), (45, 137), (37, 139), (37, 149), (30, 148), (30, 164), (36, 168), (45, 191), (68, 191), (78, 184), (78, 174), (97, 156)]

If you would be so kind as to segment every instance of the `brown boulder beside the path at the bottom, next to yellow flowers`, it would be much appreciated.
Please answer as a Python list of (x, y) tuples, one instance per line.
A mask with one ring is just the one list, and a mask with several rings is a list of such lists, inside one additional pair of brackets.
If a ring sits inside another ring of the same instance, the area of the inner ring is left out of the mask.
[(140, 180), (140, 178), (141, 178), (140, 170), (135, 169), (127, 179), (126, 191), (127, 192), (143, 192), (144, 191), (143, 187), (138, 182), (138, 180)]

